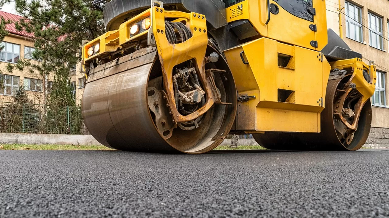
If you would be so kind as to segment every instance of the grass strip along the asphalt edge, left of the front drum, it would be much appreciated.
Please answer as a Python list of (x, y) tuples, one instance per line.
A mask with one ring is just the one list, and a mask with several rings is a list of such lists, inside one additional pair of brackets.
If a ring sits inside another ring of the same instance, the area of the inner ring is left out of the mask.
[(57, 150), (57, 151), (113, 151), (103, 145), (23, 145), (0, 144), (0, 150)]

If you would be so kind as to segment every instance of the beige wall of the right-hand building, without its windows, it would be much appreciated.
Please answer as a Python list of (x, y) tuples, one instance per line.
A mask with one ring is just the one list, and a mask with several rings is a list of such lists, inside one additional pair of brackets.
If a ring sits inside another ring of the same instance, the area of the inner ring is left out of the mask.
[[(328, 28), (333, 29), (339, 35), (339, 21), (338, 21), (338, 9), (342, 9), (341, 14), (341, 27), (343, 29), (343, 40), (350, 46), (350, 48), (356, 52), (359, 52), (363, 56), (363, 60), (366, 63), (374, 61), (377, 65), (377, 70), (385, 73), (385, 90), (386, 90), (386, 105), (389, 104), (389, 53), (388, 53), (388, 19), (389, 19), (389, 1), (388, 0), (353, 0), (349, 1), (353, 5), (361, 8), (362, 15), (362, 31), (363, 42), (352, 40), (346, 36), (346, 15), (345, 15), (345, 0), (326, 1), (327, 9), (327, 25)], [(382, 19), (382, 33), (383, 33), (383, 50), (370, 46), (369, 43), (369, 18), (368, 13), (373, 13)], [(350, 18), (348, 18), (350, 19)], [(351, 19), (352, 20), (352, 19)], [(373, 121), (372, 127), (376, 128), (389, 128), (389, 108), (387, 106), (374, 106), (372, 111)]]

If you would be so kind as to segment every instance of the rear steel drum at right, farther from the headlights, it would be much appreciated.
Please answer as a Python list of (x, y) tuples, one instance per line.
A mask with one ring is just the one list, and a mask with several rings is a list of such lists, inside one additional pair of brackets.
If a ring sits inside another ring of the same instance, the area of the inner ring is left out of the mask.
[[(360, 149), (370, 133), (371, 102), (368, 100), (364, 104), (357, 123), (357, 130), (348, 130), (338, 117), (334, 115), (335, 111), (341, 110), (336, 104), (338, 102), (338, 90), (342, 89), (347, 80), (348, 78), (346, 77), (328, 81), (325, 108), (321, 112), (321, 133), (253, 134), (254, 139), (262, 147), (275, 150), (356, 151)], [(354, 92), (352, 95), (347, 96), (349, 100), (344, 105), (346, 109), (349, 107), (355, 111), (357, 94)], [(355, 116), (353, 117), (351, 113), (349, 119), (351, 123)]]

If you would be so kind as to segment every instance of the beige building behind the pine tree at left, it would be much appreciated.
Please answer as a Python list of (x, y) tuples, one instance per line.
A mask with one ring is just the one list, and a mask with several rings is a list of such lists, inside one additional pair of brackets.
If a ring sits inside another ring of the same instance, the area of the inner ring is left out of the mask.
[[(11, 21), (19, 21), (23, 18), (4, 11), (0, 11), (0, 16)], [(0, 82), (2, 82), (0, 102), (12, 102), (12, 95), (23, 85), (35, 104), (46, 104), (47, 96), (53, 85), (52, 75), (42, 76), (39, 73), (31, 73), (27, 69), (23, 71), (16, 69), (12, 73), (6, 71), (7, 64), (16, 64), (19, 59), (35, 61), (32, 57), (32, 52), (35, 50), (33, 34), (16, 30), (15, 24), (7, 24), (6, 29), (9, 34), (1, 42), (4, 48), (0, 53), (0, 70), (3, 73), (0, 76)], [(80, 66), (74, 66), (71, 69), (69, 80), (76, 105), (79, 105), (85, 84), (84, 76), (80, 73)]]

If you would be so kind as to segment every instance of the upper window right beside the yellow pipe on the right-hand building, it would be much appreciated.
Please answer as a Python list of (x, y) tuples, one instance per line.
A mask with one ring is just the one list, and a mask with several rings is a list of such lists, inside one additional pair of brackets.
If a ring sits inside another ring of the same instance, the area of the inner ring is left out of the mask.
[(345, 2), (346, 36), (352, 40), (363, 42), (362, 9), (350, 2)]

